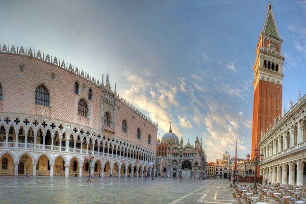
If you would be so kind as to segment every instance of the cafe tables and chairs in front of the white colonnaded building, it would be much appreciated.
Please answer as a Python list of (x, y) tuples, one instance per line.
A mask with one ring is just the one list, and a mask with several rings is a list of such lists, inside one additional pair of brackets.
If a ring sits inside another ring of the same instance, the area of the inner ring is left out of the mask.
[(306, 186), (292, 185), (261, 185), (257, 184), (254, 190), (253, 184), (232, 185), (232, 203), (239, 204), (306, 204)]

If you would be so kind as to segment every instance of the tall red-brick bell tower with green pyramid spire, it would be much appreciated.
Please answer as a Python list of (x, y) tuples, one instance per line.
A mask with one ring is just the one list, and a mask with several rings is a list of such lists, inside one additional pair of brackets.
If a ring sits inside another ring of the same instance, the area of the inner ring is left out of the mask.
[[(283, 64), (285, 57), (281, 53), (283, 40), (279, 37), (276, 22), (269, 3), (264, 29), (260, 33), (256, 48), (254, 71), (254, 104), (252, 126), (252, 149), (258, 149), (261, 135), (267, 132), (274, 122), (282, 117)], [(259, 175), (259, 169), (257, 171)]]

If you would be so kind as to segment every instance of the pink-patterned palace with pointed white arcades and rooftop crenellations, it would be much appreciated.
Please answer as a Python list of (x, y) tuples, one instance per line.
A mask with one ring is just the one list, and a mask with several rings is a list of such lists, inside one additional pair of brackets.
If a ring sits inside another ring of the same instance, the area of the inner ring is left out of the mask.
[[(0, 45), (1, 47), (1, 45)], [(151, 173), (158, 125), (88, 73), (30, 49), (0, 50), (0, 175)]]

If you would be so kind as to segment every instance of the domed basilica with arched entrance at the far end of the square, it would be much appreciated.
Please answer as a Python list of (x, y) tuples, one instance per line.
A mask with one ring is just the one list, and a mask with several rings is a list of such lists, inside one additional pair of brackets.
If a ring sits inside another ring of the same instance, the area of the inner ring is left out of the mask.
[(157, 175), (177, 178), (181, 174), (188, 179), (207, 176), (206, 155), (198, 137), (194, 146), (189, 139), (184, 145), (183, 136), (179, 141), (170, 126), (169, 133), (162, 137), (162, 141), (158, 140), (156, 155)]

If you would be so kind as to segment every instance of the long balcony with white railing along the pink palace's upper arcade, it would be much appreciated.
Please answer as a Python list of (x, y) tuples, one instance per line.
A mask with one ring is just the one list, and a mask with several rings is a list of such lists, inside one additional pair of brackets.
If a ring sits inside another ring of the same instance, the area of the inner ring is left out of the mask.
[[(78, 149), (78, 148), (71, 148), (71, 147), (64, 147), (64, 146), (52, 146), (52, 145), (42, 145), (42, 144), (36, 144), (34, 145), (33, 143), (28, 143), (25, 145), (25, 143), (18, 143), (16, 147), (15, 142), (8, 142), (8, 147), (6, 146), (6, 142), (0, 142), (0, 150), (2, 149), (12, 149), (12, 150), (33, 150), (33, 151), (41, 151), (41, 152), (52, 152), (52, 153), (63, 153), (65, 154), (72, 154), (72, 155), (77, 155), (77, 156), (88, 156), (88, 152), (92, 152), (94, 157), (96, 158), (109, 158), (109, 159), (115, 159), (115, 160), (123, 160), (123, 161), (131, 161), (131, 162), (137, 162), (141, 164), (149, 164), (149, 161), (142, 161), (130, 157), (125, 157), (125, 156), (120, 156), (120, 155), (115, 155), (112, 154), (110, 151), (109, 154), (106, 152), (98, 152), (98, 151), (91, 151), (91, 150), (86, 150), (86, 149)], [(115, 151), (114, 151), (115, 153)], [(130, 155), (129, 155), (130, 156)]]

